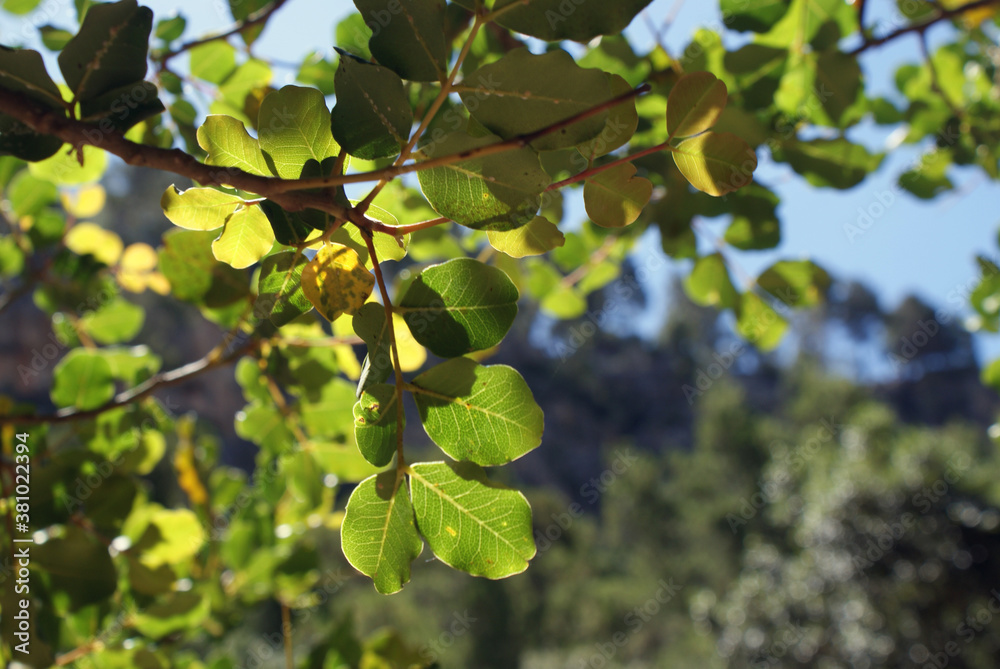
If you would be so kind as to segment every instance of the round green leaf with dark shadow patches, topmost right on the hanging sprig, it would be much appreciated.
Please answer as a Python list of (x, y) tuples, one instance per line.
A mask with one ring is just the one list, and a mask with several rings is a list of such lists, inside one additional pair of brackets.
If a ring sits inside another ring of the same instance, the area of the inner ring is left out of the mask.
[(503, 270), (456, 258), (421, 272), (395, 310), (421, 345), (454, 358), (499, 344), (517, 315), (518, 297)]

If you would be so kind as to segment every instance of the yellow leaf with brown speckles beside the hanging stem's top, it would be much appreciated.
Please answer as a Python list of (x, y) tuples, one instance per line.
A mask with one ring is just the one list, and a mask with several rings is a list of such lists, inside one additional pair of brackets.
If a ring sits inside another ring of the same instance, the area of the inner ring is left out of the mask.
[(375, 287), (375, 277), (358, 254), (340, 244), (328, 244), (302, 270), (302, 291), (328, 321), (353, 314)]

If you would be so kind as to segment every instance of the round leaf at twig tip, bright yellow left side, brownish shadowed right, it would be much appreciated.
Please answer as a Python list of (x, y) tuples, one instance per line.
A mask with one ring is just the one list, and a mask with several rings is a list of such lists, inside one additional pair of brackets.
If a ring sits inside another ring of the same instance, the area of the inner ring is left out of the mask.
[(706, 132), (681, 142), (674, 163), (692, 186), (721, 196), (746, 186), (757, 169), (757, 155), (736, 135)]

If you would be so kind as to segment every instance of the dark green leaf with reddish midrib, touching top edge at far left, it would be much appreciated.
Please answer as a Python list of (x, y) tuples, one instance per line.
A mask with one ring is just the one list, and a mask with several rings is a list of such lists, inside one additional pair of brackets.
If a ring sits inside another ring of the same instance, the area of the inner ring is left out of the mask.
[(59, 69), (78, 102), (146, 76), (153, 12), (135, 0), (94, 5), (59, 54)]

